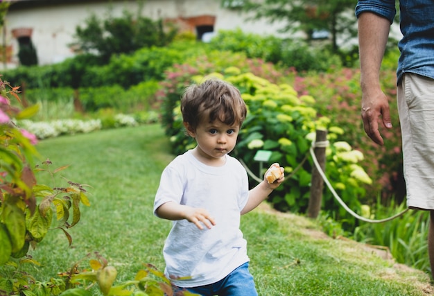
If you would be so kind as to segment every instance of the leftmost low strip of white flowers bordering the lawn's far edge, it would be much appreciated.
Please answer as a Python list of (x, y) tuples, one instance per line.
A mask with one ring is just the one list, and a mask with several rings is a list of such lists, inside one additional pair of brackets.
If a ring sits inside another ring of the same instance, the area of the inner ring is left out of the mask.
[(101, 130), (99, 119), (81, 121), (78, 119), (64, 119), (50, 122), (34, 122), (30, 120), (19, 121), (18, 125), (28, 132), (35, 134), (37, 139), (58, 137), (61, 134), (77, 134)]

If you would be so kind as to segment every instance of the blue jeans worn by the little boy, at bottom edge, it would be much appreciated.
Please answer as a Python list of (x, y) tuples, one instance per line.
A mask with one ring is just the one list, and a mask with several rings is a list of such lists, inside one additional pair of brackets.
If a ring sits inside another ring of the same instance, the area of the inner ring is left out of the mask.
[(257, 296), (257, 290), (254, 288), (253, 277), (249, 272), (249, 263), (236, 268), (229, 273), (224, 279), (214, 284), (185, 288), (191, 293), (202, 296)]

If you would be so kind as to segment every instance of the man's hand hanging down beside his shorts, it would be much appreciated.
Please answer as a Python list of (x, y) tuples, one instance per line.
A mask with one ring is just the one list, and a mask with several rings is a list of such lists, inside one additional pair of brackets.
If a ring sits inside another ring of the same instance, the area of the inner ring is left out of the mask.
[(383, 137), (379, 132), (379, 121), (385, 128), (392, 128), (390, 110), (387, 96), (383, 92), (362, 96), (362, 119), (366, 134), (379, 145), (384, 145)]

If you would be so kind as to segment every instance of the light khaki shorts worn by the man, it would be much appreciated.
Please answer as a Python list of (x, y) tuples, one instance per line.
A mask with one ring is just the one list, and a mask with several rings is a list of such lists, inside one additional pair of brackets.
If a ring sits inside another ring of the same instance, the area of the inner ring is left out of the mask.
[(434, 209), (434, 80), (406, 73), (397, 92), (407, 206)]

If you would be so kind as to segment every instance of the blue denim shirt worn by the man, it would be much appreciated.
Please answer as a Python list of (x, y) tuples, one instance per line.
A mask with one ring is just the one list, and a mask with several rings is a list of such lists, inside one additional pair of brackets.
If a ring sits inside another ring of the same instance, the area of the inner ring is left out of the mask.
[[(400, 0), (400, 28), (403, 35), (398, 47), (397, 78), (406, 72), (434, 79), (434, 1)], [(356, 17), (362, 12), (373, 12), (385, 17), (392, 24), (394, 0), (358, 0)]]

